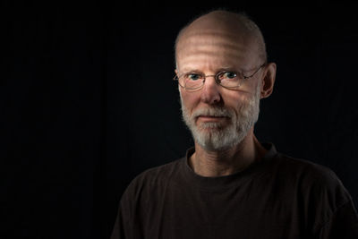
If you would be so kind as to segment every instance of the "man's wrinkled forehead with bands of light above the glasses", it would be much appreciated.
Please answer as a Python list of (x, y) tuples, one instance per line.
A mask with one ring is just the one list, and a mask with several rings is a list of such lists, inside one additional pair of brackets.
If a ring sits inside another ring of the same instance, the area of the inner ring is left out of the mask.
[(252, 40), (234, 30), (185, 32), (176, 47), (177, 66), (187, 68), (245, 67), (255, 60)]

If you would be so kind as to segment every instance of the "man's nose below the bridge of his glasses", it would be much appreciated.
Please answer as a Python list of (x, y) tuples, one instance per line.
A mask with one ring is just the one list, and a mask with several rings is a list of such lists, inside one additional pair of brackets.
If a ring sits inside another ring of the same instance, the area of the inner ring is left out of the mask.
[(215, 76), (209, 75), (206, 77), (204, 86), (201, 90), (200, 99), (202, 102), (215, 105), (220, 102), (221, 95), (219, 92), (219, 85), (215, 81)]

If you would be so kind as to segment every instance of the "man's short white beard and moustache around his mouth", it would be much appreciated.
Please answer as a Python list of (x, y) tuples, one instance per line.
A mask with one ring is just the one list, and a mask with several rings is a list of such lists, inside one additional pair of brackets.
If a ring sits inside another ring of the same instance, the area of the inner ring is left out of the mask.
[[(189, 114), (187, 107), (182, 102), (183, 121), (192, 132), (192, 137), (203, 149), (220, 151), (229, 149), (239, 144), (251, 127), (257, 122), (260, 112), (260, 83), (254, 95), (247, 101), (241, 103), (240, 107), (206, 107), (200, 108)], [(229, 124), (207, 122), (196, 125), (196, 118), (199, 115), (226, 116)]]

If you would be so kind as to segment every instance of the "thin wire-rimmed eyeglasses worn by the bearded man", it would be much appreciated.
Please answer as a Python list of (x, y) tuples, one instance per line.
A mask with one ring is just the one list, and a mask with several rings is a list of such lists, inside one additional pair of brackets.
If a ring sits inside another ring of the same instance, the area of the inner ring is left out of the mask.
[(232, 71), (224, 71), (219, 72), (217, 74), (205, 75), (202, 73), (183, 73), (180, 76), (175, 75), (173, 78), (174, 81), (178, 81), (179, 85), (188, 91), (200, 90), (200, 88), (204, 85), (207, 77), (212, 76), (215, 78), (215, 81), (218, 85), (226, 89), (237, 89), (241, 86), (244, 80), (250, 79), (256, 73), (260, 71), (260, 69), (265, 66), (265, 64), (261, 64), (260, 67), (251, 75), (245, 76), (240, 72), (232, 72)]

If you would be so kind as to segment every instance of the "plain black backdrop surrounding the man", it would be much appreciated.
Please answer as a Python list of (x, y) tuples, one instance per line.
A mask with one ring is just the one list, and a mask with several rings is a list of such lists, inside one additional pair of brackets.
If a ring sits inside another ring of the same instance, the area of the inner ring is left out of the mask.
[(107, 238), (141, 171), (192, 146), (174, 41), (196, 15), (245, 11), (277, 63), (256, 135), (333, 169), (358, 205), (353, 4), (9, 4), (1, 14), (0, 238)]

